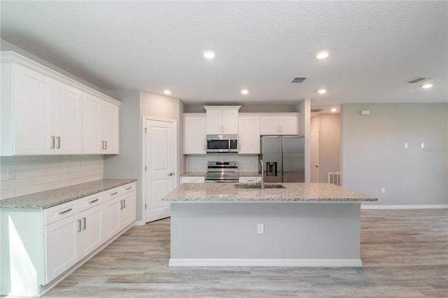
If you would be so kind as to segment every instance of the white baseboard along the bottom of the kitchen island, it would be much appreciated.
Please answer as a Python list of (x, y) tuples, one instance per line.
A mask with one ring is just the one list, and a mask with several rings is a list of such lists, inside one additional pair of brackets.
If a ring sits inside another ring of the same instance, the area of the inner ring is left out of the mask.
[(362, 267), (360, 259), (169, 259), (169, 267)]

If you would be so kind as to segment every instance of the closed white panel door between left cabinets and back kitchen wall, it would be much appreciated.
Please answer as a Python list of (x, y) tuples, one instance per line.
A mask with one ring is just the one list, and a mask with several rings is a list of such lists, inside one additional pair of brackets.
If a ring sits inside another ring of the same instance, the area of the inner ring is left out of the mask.
[(162, 197), (177, 181), (176, 121), (144, 118), (145, 221), (171, 215), (170, 203)]

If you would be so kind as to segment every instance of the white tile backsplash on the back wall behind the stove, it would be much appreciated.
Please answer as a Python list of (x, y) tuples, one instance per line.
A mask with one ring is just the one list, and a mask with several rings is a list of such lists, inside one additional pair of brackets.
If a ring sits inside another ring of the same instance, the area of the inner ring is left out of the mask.
[(187, 155), (186, 171), (207, 171), (207, 162), (238, 162), (238, 171), (258, 171), (258, 155), (236, 155), (234, 153), (209, 153), (207, 155)]

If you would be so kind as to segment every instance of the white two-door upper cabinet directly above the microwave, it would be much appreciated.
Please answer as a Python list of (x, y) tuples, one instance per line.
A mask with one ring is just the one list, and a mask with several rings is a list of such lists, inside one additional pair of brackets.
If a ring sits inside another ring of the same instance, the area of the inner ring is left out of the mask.
[(240, 106), (204, 106), (207, 111), (207, 134), (238, 134)]

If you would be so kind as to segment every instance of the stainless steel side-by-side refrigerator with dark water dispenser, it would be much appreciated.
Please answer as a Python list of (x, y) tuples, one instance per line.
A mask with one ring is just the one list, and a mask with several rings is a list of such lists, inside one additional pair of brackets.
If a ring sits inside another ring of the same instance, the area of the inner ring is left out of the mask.
[(265, 182), (304, 182), (304, 137), (262, 136), (260, 142)]

